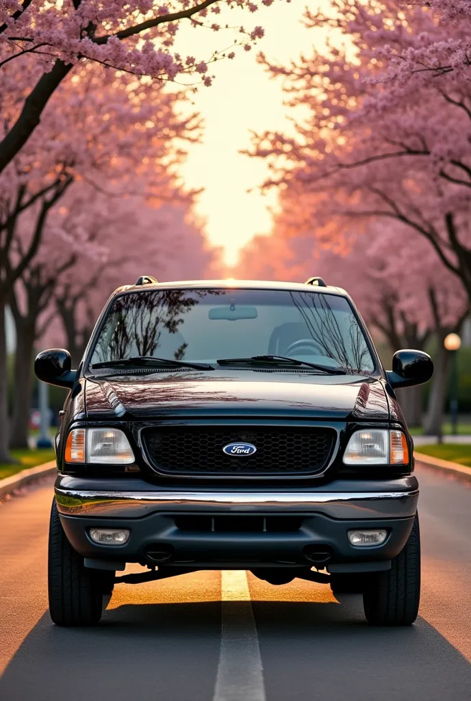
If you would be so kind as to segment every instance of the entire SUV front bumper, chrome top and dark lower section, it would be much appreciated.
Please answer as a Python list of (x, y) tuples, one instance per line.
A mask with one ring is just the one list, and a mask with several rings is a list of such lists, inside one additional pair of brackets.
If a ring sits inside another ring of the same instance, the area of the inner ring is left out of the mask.
[[(113, 489), (106, 486), (100, 480), (57, 478), (57, 509), (75, 550), (91, 559), (145, 564), (146, 551), (158, 544), (172, 549), (166, 566), (195, 569), (306, 566), (306, 548), (313, 546), (332, 551), (330, 571), (385, 563), (404, 547), (418, 501), (415, 477), (385, 482), (338, 480), (323, 489), (292, 491), (179, 491), (139, 479), (116, 480)], [(233, 517), (233, 524), (229, 530), (214, 532), (178, 525), (179, 517), (207, 515), (215, 522), (217, 517)], [(245, 526), (238, 530), (237, 524), (247, 516), (296, 516), (300, 525), (277, 532), (250, 531)], [(130, 538), (125, 545), (97, 545), (90, 539), (90, 528), (126, 528)], [(347, 531), (361, 528), (385, 528), (388, 538), (374, 547), (350, 545)]]

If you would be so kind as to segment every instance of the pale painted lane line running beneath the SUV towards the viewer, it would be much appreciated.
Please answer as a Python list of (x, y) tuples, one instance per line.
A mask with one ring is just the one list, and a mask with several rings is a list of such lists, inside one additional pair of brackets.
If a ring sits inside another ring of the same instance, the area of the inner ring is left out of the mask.
[(259, 639), (243, 570), (221, 572), (221, 653), (213, 701), (266, 701)]

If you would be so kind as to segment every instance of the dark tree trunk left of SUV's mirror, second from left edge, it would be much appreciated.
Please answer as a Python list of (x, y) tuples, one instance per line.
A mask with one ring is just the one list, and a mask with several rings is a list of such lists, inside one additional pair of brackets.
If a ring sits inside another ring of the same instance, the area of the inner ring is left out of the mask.
[(18, 324), (15, 355), (15, 394), (13, 395), (13, 417), (11, 422), (10, 447), (28, 447), (29, 410), (32, 397), (32, 361), (35, 322)]

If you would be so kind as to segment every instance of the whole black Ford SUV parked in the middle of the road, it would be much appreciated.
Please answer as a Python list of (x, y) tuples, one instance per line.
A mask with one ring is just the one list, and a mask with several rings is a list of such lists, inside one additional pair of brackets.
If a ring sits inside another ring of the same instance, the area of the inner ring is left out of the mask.
[[(116, 582), (248, 569), (362, 592), (367, 620), (410, 625), (420, 593), (418, 483), (395, 388), (344, 290), (143, 276), (107, 302), (83, 361), (36, 358), (69, 388), (56, 436), (49, 604), (100, 620)], [(128, 562), (148, 568), (116, 577)]]

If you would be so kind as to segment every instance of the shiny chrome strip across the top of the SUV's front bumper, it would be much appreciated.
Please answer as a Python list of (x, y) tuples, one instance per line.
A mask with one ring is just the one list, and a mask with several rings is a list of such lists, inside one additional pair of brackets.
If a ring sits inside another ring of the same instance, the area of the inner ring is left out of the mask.
[(55, 488), (63, 515), (139, 518), (156, 512), (313, 514), (334, 519), (413, 516), (418, 489), (404, 491), (85, 491)]

